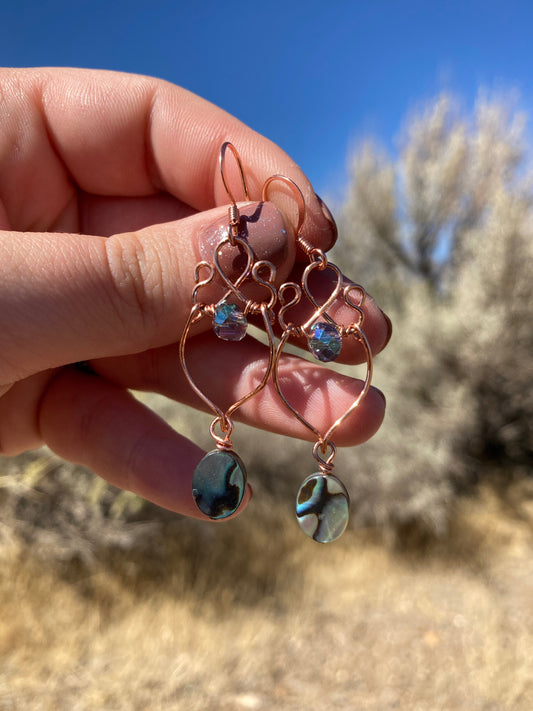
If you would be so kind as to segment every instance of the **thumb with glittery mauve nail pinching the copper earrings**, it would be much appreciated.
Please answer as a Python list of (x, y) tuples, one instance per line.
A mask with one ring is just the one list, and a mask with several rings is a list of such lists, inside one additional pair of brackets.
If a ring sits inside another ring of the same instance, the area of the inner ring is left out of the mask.
[[(271, 261), (283, 279), (295, 247), (282, 214), (272, 203), (240, 212), (257, 259)], [(0, 385), (176, 341), (195, 266), (212, 261), (227, 227), (227, 207), (218, 207), (109, 238), (0, 232)], [(222, 266), (235, 278), (229, 256), (222, 253)]]

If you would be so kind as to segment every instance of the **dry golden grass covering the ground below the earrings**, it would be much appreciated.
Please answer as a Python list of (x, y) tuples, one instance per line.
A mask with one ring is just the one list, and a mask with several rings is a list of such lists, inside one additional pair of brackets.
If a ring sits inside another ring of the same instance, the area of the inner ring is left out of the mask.
[(264, 503), (170, 520), (148, 560), (100, 551), (92, 573), (5, 548), (0, 708), (530, 711), (524, 507), (464, 502), (425, 553), (353, 532), (321, 547)]

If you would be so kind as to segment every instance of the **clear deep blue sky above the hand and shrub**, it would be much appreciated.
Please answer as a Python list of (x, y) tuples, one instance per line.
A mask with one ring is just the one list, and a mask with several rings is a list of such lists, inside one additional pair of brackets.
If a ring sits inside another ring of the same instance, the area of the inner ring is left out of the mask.
[(394, 150), (441, 90), (517, 88), (533, 104), (533, 3), (2, 0), (2, 66), (139, 72), (187, 87), (279, 143), (339, 198), (362, 138)]

